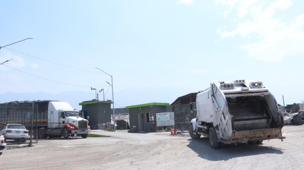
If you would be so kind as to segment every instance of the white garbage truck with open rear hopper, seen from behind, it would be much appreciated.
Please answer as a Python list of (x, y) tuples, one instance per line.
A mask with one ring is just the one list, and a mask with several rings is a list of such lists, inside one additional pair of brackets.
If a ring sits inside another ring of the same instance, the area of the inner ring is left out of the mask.
[(262, 143), (281, 139), (283, 117), (275, 97), (261, 81), (216, 82), (196, 96), (197, 118), (191, 120), (192, 139), (208, 136), (213, 149), (220, 142)]

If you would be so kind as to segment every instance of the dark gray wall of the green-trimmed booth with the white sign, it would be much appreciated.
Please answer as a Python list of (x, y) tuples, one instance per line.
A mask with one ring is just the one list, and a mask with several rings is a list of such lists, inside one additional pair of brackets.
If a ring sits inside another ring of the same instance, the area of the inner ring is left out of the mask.
[[(144, 106), (144, 107), (136, 107), (136, 108), (130, 108), (130, 129), (133, 128), (133, 126), (136, 126), (136, 131), (139, 132), (139, 113), (144, 113), (144, 127), (145, 132), (149, 132), (149, 129), (152, 131), (160, 130), (161, 127), (156, 126), (156, 112), (166, 112), (166, 106)], [(153, 122), (147, 122), (146, 113), (152, 113), (154, 117), (155, 125), (153, 126)]]

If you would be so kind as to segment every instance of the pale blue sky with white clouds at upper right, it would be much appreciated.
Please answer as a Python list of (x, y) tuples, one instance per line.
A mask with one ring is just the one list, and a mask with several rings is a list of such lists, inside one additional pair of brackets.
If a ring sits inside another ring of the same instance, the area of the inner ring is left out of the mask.
[[(303, 6), (301, 0), (1, 1), (0, 46), (33, 39), (1, 48), (0, 63), (13, 60), (0, 65), (0, 96), (91, 94), (80, 103), (95, 98), (90, 87), (96, 87), (112, 99), (111, 77), (98, 67), (113, 76), (120, 106), (172, 103), (211, 82), (239, 79), (262, 81), (280, 104), (282, 95), (285, 104), (300, 103)], [(119, 96), (126, 91), (132, 100)]]

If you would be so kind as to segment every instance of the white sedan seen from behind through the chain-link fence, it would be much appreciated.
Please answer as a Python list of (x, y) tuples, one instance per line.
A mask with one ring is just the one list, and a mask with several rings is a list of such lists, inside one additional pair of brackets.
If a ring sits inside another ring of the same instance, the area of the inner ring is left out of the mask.
[(21, 124), (6, 124), (0, 131), (0, 135), (3, 135), (5, 140), (12, 139), (15, 142), (26, 142), (29, 131)]

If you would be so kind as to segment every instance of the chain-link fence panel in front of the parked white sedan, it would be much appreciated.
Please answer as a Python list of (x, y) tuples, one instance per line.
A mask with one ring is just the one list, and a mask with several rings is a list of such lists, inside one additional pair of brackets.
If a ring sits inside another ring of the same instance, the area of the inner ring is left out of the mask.
[(0, 135), (7, 145), (38, 143), (37, 104), (0, 104)]

